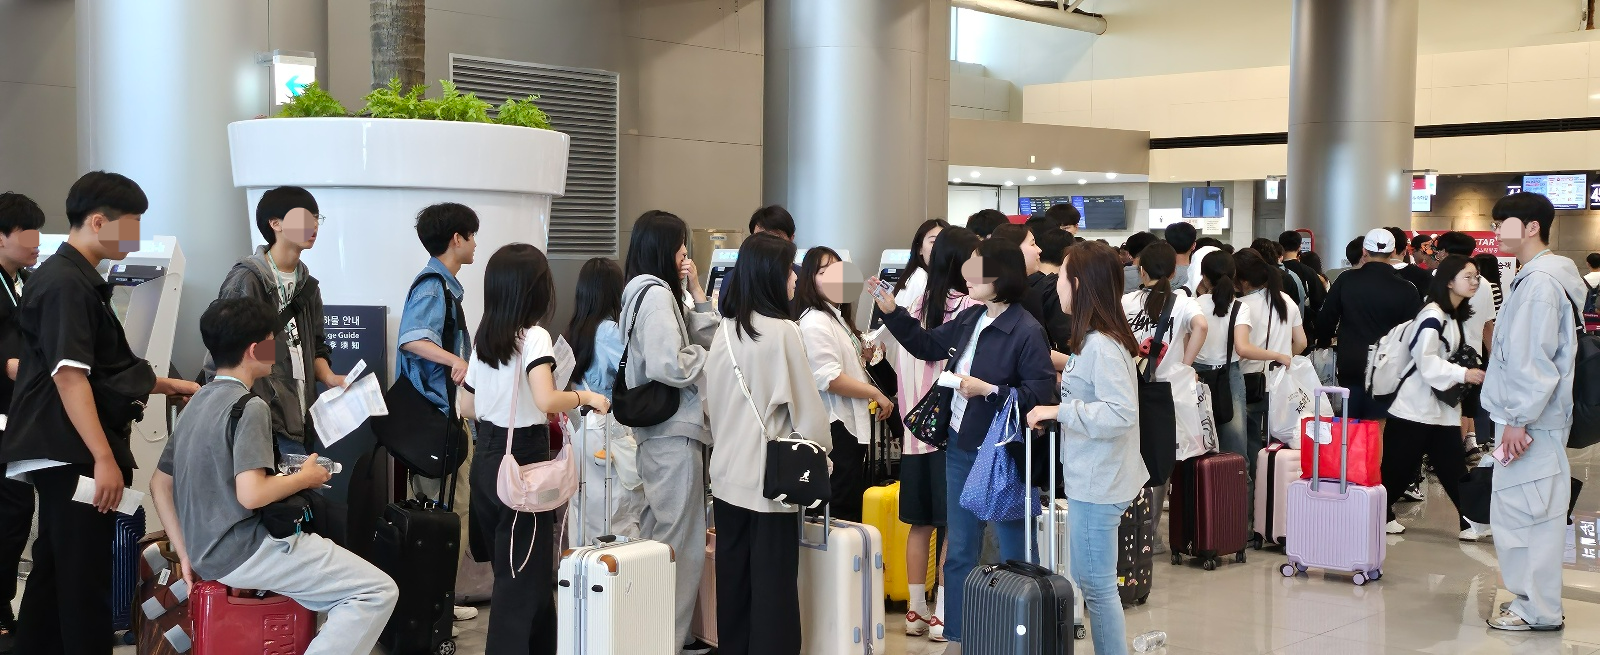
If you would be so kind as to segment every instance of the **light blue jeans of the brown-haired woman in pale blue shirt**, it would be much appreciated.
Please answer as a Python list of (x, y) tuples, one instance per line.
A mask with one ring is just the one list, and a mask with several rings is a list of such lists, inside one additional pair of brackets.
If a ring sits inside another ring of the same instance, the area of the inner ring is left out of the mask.
[[(1096, 655), (1126, 655), (1128, 628), (1117, 591), (1117, 527), (1130, 503), (1067, 501), (1072, 532), (1072, 580), (1083, 589)], [(954, 559), (955, 551), (950, 551)], [(949, 633), (946, 633), (949, 634)]]

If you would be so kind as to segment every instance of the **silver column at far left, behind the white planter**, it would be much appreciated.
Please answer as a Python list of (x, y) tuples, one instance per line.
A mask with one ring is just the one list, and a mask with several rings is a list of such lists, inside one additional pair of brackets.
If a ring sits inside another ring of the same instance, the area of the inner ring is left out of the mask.
[(178, 237), (187, 274), (173, 360), (192, 376), (205, 357), (200, 312), (250, 251), (227, 123), (270, 111), (258, 51), (326, 45), (326, 5), (77, 0), (75, 8), (78, 168), (133, 178), (150, 197), (141, 232)]

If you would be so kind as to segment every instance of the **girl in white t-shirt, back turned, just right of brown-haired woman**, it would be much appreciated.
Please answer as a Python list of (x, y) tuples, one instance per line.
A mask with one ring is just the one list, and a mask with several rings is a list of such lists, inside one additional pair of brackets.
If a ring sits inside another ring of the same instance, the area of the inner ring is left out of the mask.
[[(1133, 338), (1146, 352), (1146, 367), (1152, 365), (1149, 364), (1150, 357), (1160, 357), (1154, 364), (1155, 380), (1173, 388), (1173, 418), (1178, 424), (1173, 439), (1178, 442), (1178, 458), (1187, 460), (1205, 453), (1205, 448), (1198, 447), (1205, 439), (1202, 437), (1198, 404), (1195, 404), (1198, 388), (1195, 386), (1194, 362), (1195, 356), (1200, 354), (1200, 346), (1205, 344), (1210, 325), (1206, 325), (1194, 298), (1189, 298), (1186, 291), (1173, 290), (1171, 277), (1176, 266), (1178, 253), (1166, 242), (1150, 243), (1139, 251), (1139, 288), (1122, 296), (1122, 311), (1133, 328)], [(1166, 311), (1166, 303), (1171, 303), (1173, 309), (1166, 328), (1162, 330), (1162, 314)], [(1152, 352), (1157, 336), (1162, 338), (1162, 352)], [(1165, 495), (1166, 485), (1155, 487), (1155, 500), (1150, 501), (1150, 506), (1155, 511), (1157, 524), (1162, 522)], [(1165, 551), (1166, 546), (1157, 536), (1155, 553)]]

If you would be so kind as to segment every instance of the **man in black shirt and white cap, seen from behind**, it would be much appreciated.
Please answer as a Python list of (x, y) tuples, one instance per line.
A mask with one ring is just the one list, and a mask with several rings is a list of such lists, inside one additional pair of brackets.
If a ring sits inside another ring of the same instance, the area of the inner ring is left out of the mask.
[(1366, 349), (1422, 309), (1416, 288), (1403, 280), (1389, 258), (1398, 243), (1386, 229), (1366, 232), (1362, 266), (1333, 280), (1317, 314), (1318, 341), (1338, 335), (1339, 386), (1350, 389), (1350, 418), (1382, 420), (1387, 407), (1366, 391)]

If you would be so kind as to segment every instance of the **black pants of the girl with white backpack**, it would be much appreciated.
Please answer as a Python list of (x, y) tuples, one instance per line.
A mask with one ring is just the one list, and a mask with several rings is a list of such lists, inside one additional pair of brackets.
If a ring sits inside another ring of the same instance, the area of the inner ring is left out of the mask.
[(1461, 476), (1467, 474), (1467, 455), (1461, 450), (1461, 426), (1430, 426), (1394, 416), (1384, 426), (1382, 476), (1389, 492), (1389, 520), (1395, 520), (1395, 501), (1416, 479), (1422, 455), (1434, 463), (1434, 476), (1456, 508), (1456, 522), (1466, 528), (1467, 522), (1461, 519)]

